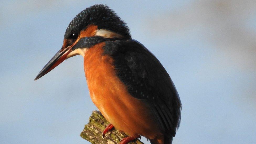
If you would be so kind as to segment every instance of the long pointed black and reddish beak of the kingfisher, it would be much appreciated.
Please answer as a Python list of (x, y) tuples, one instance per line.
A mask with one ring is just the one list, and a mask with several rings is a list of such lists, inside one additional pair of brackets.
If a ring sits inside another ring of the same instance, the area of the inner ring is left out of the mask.
[(44, 76), (46, 73), (50, 72), (52, 69), (54, 69), (56, 66), (58, 66), (61, 62), (66, 60), (67, 55), (72, 51), (71, 46), (60, 49), (57, 54), (52, 57), (52, 59), (44, 66), (44, 68), (39, 72), (39, 74), (34, 79), (37, 80), (40, 77)]

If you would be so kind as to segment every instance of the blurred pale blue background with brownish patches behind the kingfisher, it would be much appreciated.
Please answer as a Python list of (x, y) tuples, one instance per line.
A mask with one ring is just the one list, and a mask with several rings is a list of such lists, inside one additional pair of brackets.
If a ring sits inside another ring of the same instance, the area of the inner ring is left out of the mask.
[(33, 80), (73, 17), (99, 3), (173, 79), (183, 104), (174, 143), (255, 143), (256, 1), (0, 2), (0, 143), (89, 143), (79, 134), (97, 108), (82, 56)]

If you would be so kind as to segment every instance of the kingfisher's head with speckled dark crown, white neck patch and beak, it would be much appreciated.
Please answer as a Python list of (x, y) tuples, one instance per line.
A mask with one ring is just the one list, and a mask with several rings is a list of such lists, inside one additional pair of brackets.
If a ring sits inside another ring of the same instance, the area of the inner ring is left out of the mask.
[(103, 4), (91, 6), (73, 18), (65, 32), (61, 49), (44, 66), (35, 80), (69, 57), (84, 56), (90, 47), (100, 42), (130, 38), (126, 23), (112, 9)]

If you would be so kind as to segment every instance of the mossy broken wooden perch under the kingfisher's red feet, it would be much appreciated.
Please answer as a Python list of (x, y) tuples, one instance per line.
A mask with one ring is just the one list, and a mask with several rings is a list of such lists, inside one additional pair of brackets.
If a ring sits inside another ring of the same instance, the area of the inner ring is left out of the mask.
[[(125, 133), (121, 133), (113, 127), (109, 132), (105, 134), (105, 138), (102, 137), (103, 130), (109, 122), (103, 117), (99, 111), (93, 111), (89, 118), (89, 123), (84, 126), (84, 130), (81, 132), (80, 136), (96, 144), (118, 144), (122, 138), (127, 137)], [(129, 144), (143, 144), (138, 139), (129, 142)]]

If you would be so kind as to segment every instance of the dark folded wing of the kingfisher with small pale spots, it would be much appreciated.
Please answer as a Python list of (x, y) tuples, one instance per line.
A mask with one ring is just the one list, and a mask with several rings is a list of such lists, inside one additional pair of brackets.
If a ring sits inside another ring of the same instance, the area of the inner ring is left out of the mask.
[(175, 136), (181, 102), (169, 74), (158, 59), (135, 40), (107, 41), (104, 54), (114, 58), (120, 80), (130, 94), (148, 103), (162, 131)]

